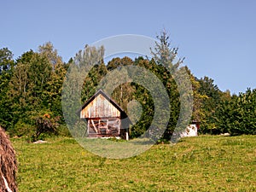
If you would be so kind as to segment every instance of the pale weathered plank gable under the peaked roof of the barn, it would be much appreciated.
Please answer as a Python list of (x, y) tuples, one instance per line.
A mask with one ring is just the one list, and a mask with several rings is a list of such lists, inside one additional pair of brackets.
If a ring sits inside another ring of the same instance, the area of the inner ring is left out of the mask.
[(99, 94), (80, 112), (80, 118), (120, 117), (120, 112), (104, 96)]

